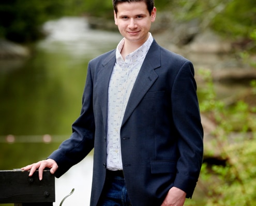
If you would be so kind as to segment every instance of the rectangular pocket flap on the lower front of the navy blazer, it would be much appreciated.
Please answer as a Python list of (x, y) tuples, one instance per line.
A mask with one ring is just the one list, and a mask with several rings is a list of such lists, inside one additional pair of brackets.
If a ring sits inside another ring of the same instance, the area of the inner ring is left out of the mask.
[(151, 161), (151, 173), (174, 173), (176, 171), (176, 162), (174, 161)]

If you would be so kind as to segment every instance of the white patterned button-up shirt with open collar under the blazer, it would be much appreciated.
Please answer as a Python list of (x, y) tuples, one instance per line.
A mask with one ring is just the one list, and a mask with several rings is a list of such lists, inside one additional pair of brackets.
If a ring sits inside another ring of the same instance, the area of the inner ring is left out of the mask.
[(122, 170), (120, 130), (134, 82), (139, 74), (142, 63), (153, 42), (149, 33), (147, 41), (126, 56), (121, 55), (125, 38), (119, 42), (116, 49), (114, 65), (108, 90), (108, 133), (107, 133), (107, 168)]

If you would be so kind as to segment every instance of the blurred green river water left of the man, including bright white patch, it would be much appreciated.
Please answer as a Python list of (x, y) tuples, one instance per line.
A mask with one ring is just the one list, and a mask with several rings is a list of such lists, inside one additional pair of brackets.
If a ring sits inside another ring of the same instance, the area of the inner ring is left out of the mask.
[[(1, 170), (45, 159), (69, 137), (80, 114), (88, 61), (121, 40), (118, 32), (89, 29), (83, 18), (50, 21), (44, 30), (49, 36), (34, 46), (31, 58), (0, 60)], [(88, 156), (56, 179), (54, 205), (72, 188), (63, 205), (89, 205), (92, 162)]]

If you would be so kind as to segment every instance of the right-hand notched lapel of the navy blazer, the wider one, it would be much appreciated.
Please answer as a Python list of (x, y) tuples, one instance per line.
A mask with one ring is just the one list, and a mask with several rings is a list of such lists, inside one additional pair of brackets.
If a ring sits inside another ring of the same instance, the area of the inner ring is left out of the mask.
[(158, 68), (160, 66), (160, 46), (154, 40), (148, 50), (145, 60), (141, 66), (141, 70), (131, 91), (131, 95), (125, 110), (122, 126), (130, 117), (133, 110), (138, 106), (141, 99), (147, 93), (149, 88), (158, 78), (158, 75), (155, 72), (155, 68)]

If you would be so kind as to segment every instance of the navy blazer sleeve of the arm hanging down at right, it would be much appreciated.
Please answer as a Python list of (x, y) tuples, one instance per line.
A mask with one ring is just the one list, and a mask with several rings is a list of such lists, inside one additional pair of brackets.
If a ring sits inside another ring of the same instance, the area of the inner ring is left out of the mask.
[(191, 198), (197, 184), (203, 159), (201, 124), (194, 68), (186, 61), (178, 71), (172, 88), (172, 112), (178, 133), (177, 174), (174, 186)]

